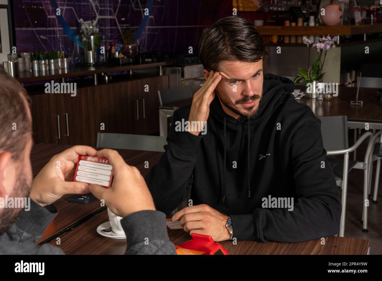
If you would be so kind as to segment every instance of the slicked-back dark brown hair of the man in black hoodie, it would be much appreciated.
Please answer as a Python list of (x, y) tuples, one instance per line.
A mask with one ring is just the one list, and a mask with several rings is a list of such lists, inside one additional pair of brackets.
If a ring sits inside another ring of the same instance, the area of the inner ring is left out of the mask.
[(222, 60), (258, 62), (268, 55), (262, 36), (241, 16), (228, 16), (204, 29), (199, 57), (204, 69), (217, 70)]

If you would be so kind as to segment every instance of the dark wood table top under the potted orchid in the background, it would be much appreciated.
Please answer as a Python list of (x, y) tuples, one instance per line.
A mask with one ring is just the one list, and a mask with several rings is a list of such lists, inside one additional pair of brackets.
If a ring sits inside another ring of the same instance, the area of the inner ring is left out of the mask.
[(317, 117), (346, 115), (348, 121), (382, 123), (382, 106), (377, 97), (377, 88), (359, 88), (358, 100), (363, 101), (362, 106), (350, 104), (350, 101), (355, 101), (356, 94), (357, 88), (341, 86), (338, 96), (330, 100), (318, 101), (303, 97), (298, 102), (310, 106)]

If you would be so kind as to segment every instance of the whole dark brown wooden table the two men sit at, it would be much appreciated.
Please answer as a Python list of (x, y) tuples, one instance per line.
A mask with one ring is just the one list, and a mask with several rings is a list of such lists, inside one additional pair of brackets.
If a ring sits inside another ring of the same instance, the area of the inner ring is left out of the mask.
[[(61, 151), (69, 148), (67, 145), (37, 144), (31, 153), (32, 171), (35, 176), (49, 159)], [(149, 169), (144, 168), (144, 161), (149, 159), (150, 167), (157, 164), (162, 152), (138, 151), (117, 149), (125, 161), (138, 167), (142, 175), (146, 175)], [(108, 221), (105, 207), (100, 207), (99, 201), (94, 200), (89, 204), (70, 203), (62, 197), (54, 203), (59, 210), (56, 218), (44, 232), (42, 241), (50, 241), (52, 245), (60, 247), (66, 254), (123, 254), (126, 251), (126, 239), (111, 239), (100, 236), (97, 227)], [(191, 239), (191, 236), (183, 230), (168, 229), (169, 239), (177, 245)], [(60, 244), (57, 239), (60, 237)], [(256, 241), (237, 241), (233, 245), (231, 241), (223, 241), (220, 244), (230, 254), (353, 254), (365, 255), (369, 247), (369, 240), (327, 237), (325, 245), (321, 245), (320, 239), (300, 243), (260, 243)]]

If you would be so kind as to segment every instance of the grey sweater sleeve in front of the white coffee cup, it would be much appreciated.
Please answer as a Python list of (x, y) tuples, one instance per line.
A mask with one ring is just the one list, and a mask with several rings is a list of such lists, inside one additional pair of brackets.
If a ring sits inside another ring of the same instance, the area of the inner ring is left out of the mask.
[(139, 211), (121, 219), (126, 233), (126, 255), (176, 255), (168, 240), (166, 215), (160, 211)]

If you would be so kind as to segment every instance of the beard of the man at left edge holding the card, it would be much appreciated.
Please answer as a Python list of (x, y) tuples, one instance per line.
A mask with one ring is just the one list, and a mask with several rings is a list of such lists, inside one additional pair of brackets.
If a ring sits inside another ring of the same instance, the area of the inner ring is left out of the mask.
[[(31, 189), (31, 181), (28, 180), (23, 172), (20, 175), (13, 189), (13, 194), (8, 196), (8, 198), (26, 198), (29, 195)], [(4, 198), (5, 200), (5, 198)], [(16, 200), (14, 200), (16, 201)], [(8, 202), (5, 202), (8, 204)], [(0, 235), (6, 232), (18, 219), (20, 213), (24, 210), (23, 208), (2, 208), (0, 209)]]

